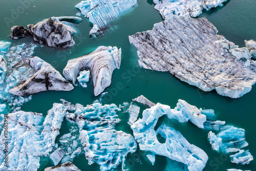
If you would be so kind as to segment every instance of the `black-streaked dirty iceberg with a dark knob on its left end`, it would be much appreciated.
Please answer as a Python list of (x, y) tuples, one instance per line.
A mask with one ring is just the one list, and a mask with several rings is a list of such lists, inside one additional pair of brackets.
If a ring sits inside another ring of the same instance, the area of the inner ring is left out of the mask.
[(27, 25), (28, 29), (23, 26), (13, 26), (10, 38), (18, 39), (30, 36), (39, 44), (67, 48), (75, 44), (72, 37), (76, 32), (73, 23), (80, 23), (81, 20), (79, 17), (50, 17), (36, 25)]

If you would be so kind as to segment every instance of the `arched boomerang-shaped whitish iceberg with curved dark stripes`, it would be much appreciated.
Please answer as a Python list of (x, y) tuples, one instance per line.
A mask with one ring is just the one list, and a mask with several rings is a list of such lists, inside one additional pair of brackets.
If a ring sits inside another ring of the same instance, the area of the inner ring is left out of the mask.
[(93, 77), (94, 95), (98, 96), (110, 86), (112, 73), (120, 68), (120, 63), (121, 49), (100, 46), (89, 55), (70, 59), (63, 75), (75, 84), (78, 73), (89, 69)]

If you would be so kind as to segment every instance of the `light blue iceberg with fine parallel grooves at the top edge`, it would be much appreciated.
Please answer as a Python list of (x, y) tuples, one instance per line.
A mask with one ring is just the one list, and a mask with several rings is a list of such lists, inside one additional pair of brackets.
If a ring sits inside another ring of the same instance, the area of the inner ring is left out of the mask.
[(111, 20), (137, 4), (137, 0), (86, 0), (75, 7), (93, 24), (90, 35), (96, 37)]

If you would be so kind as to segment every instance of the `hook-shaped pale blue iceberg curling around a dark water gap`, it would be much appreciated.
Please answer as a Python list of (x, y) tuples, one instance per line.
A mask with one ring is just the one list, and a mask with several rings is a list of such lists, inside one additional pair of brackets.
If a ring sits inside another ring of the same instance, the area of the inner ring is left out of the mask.
[[(197, 110), (196, 113), (199, 111)], [(172, 160), (182, 162), (188, 166), (189, 170), (203, 170), (208, 156), (201, 148), (190, 144), (173, 127), (162, 124), (157, 131), (154, 130), (158, 118), (163, 115), (167, 115), (169, 119), (175, 118), (179, 121), (187, 121), (191, 114), (196, 113), (195, 108), (188, 103), (186, 104), (185, 101), (179, 100), (177, 108), (174, 110), (171, 110), (168, 105), (157, 103), (150, 109), (144, 110), (142, 114), (143, 118), (138, 119), (131, 126), (131, 129), (142, 151), (148, 151), (154, 155), (166, 156)], [(195, 123), (200, 123), (200, 121)], [(158, 141), (158, 134), (165, 139), (165, 143)]]

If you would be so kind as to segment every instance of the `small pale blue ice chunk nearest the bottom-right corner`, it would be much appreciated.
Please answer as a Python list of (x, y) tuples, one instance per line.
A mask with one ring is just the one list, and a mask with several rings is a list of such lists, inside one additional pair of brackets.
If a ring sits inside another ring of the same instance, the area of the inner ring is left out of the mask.
[(250, 161), (253, 160), (252, 155), (250, 154), (249, 150), (244, 151), (243, 149), (240, 150), (238, 153), (231, 155), (231, 162), (232, 163), (242, 163), (242, 164), (249, 164)]

